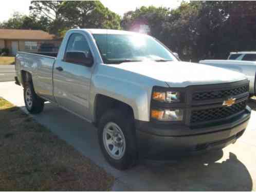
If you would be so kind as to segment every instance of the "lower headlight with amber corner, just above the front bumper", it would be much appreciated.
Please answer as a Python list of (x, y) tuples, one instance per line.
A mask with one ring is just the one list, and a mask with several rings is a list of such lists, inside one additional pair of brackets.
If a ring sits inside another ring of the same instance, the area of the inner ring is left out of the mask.
[(159, 121), (182, 121), (184, 110), (151, 110), (151, 117)]

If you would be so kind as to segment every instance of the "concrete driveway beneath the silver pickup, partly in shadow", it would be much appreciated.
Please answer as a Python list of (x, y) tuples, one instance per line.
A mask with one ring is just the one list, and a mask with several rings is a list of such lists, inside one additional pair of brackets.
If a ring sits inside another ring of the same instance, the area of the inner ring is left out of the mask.
[[(14, 82), (1, 82), (0, 96), (24, 109), (23, 89)], [(165, 162), (141, 161), (123, 172), (106, 163), (97, 130), (86, 121), (51, 103), (46, 103), (43, 113), (33, 118), (115, 176), (113, 190), (244, 191), (256, 190), (256, 104), (249, 104), (254, 111), (245, 134), (223, 151)]]

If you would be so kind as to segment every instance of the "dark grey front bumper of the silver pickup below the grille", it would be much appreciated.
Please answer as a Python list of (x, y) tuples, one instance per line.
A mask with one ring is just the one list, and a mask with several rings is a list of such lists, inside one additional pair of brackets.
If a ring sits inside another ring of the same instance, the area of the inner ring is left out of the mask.
[[(170, 126), (170, 124), (160, 126), (158, 130), (160, 134), (157, 134), (156, 124), (145, 124), (137, 121), (136, 139), (139, 156), (150, 159), (166, 159), (175, 155), (223, 148), (243, 135), (250, 118), (250, 112), (250, 108), (247, 106), (243, 114), (231, 119), (231, 122), (208, 126), (205, 129), (191, 130), (190, 134), (188, 131), (184, 134), (182, 126), (179, 126), (179, 133), (174, 131), (174, 135), (172, 135), (172, 126), (174, 130), (176, 127), (174, 127), (175, 125)], [(184, 126), (183, 128), (188, 130), (188, 127)], [(164, 132), (162, 132), (163, 129)]]

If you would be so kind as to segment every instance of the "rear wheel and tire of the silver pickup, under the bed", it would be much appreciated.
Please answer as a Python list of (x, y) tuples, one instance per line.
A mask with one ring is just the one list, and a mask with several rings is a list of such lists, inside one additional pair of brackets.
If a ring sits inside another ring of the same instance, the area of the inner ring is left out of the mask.
[(26, 83), (24, 86), (24, 101), (26, 109), (31, 114), (38, 114), (44, 110), (44, 100), (36, 95), (32, 83)]

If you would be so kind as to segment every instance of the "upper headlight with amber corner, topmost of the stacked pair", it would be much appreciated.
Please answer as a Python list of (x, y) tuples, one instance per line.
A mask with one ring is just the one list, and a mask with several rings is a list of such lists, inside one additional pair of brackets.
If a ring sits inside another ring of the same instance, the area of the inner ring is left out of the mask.
[(152, 99), (160, 102), (180, 102), (180, 93), (177, 91), (157, 92), (154, 91)]

